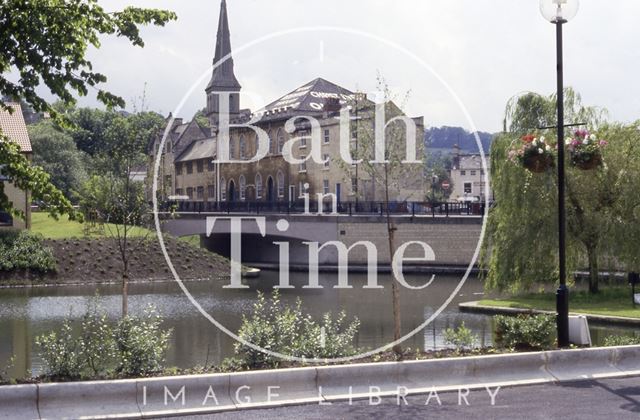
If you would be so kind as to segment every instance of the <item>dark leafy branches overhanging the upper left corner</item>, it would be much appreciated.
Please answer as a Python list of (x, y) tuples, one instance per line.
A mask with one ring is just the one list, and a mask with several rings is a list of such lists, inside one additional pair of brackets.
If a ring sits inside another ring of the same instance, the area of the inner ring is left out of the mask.
[[(107, 12), (96, 0), (5, 0), (0, 4), (0, 94), (24, 100), (35, 111), (58, 118), (37, 88), (44, 84), (63, 104), (75, 103), (74, 93), (84, 96), (90, 87), (98, 89), (106, 81), (86, 58), (90, 45), (100, 46), (100, 36), (115, 34), (144, 46), (140, 25), (163, 26), (175, 18), (169, 11), (137, 7)], [(8, 77), (11, 71), (19, 75), (17, 81)], [(106, 90), (98, 89), (97, 97), (109, 107), (124, 106), (122, 98)], [(13, 111), (4, 99), (0, 106)], [(0, 163), (5, 165), (3, 175), (18, 188), (30, 190), (33, 199), (43, 201), (52, 215), (75, 217), (70, 202), (50, 183), (47, 173), (31, 166), (1, 134)], [(20, 216), (1, 185), (0, 206)]]

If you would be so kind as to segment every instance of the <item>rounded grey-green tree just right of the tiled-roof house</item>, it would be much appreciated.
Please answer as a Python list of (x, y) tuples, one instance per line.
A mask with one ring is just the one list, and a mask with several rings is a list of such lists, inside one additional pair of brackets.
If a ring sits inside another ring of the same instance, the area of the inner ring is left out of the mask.
[(52, 121), (29, 126), (29, 138), (33, 163), (51, 175), (51, 183), (72, 199), (87, 177), (84, 153), (76, 148), (73, 138)]

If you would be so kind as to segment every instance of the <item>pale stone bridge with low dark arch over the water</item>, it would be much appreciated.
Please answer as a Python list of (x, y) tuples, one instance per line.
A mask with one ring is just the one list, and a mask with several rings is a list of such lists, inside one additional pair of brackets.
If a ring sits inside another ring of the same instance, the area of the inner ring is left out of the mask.
[[(280, 253), (279, 246), (274, 242), (287, 242), (291, 266), (306, 266), (309, 261), (309, 246), (305, 242), (317, 242), (322, 246), (330, 241), (339, 241), (346, 247), (359, 241), (369, 241), (377, 249), (378, 263), (387, 266), (390, 263), (386, 219), (375, 215), (181, 213), (173, 219), (166, 219), (163, 230), (174, 236), (200, 235), (201, 243), (206, 248), (228, 257), (231, 252), (231, 217), (242, 218), (243, 263), (275, 265), (280, 261)], [(264, 223), (264, 235), (256, 218)], [(396, 247), (412, 241), (426, 243), (432, 248), (435, 260), (416, 262), (415, 265), (434, 267), (468, 266), (480, 238), (482, 221), (480, 216), (392, 217), (396, 229)], [(413, 244), (407, 247), (404, 255), (406, 258), (420, 258), (424, 256), (424, 250)], [(363, 266), (367, 262), (367, 250), (364, 246), (355, 246), (349, 252), (350, 267)], [(327, 245), (321, 249), (319, 263), (325, 267), (336, 266), (337, 248)]]

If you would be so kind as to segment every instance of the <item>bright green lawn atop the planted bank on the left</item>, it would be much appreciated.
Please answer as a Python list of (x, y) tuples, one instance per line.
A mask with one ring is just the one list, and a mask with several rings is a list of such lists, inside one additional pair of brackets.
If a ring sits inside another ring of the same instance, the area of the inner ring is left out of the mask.
[[(84, 224), (69, 220), (65, 216), (61, 216), (58, 220), (49, 217), (48, 213), (34, 212), (31, 214), (31, 231), (34, 233), (40, 233), (47, 239), (66, 239), (66, 238), (101, 238), (105, 236), (112, 236), (109, 234), (109, 229), (115, 232), (115, 225), (106, 224), (102, 232), (95, 231), (85, 236)], [(131, 231), (131, 236), (143, 236), (146, 234), (152, 234), (147, 229), (135, 228)]]

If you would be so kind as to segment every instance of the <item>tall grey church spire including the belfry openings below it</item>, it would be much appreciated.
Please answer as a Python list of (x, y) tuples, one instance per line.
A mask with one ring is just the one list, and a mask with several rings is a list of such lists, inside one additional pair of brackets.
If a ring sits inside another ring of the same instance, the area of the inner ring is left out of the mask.
[[(224, 60), (224, 62), (220, 62)], [(216, 36), (216, 51), (213, 58), (216, 66), (211, 80), (205, 89), (207, 93), (207, 116), (212, 126), (218, 125), (220, 114), (220, 94), (229, 93), (229, 118), (233, 119), (240, 113), (240, 83), (233, 73), (233, 57), (231, 56), (231, 36), (229, 34), (229, 20), (227, 17), (227, 2), (220, 4), (218, 19), (218, 34)]]

